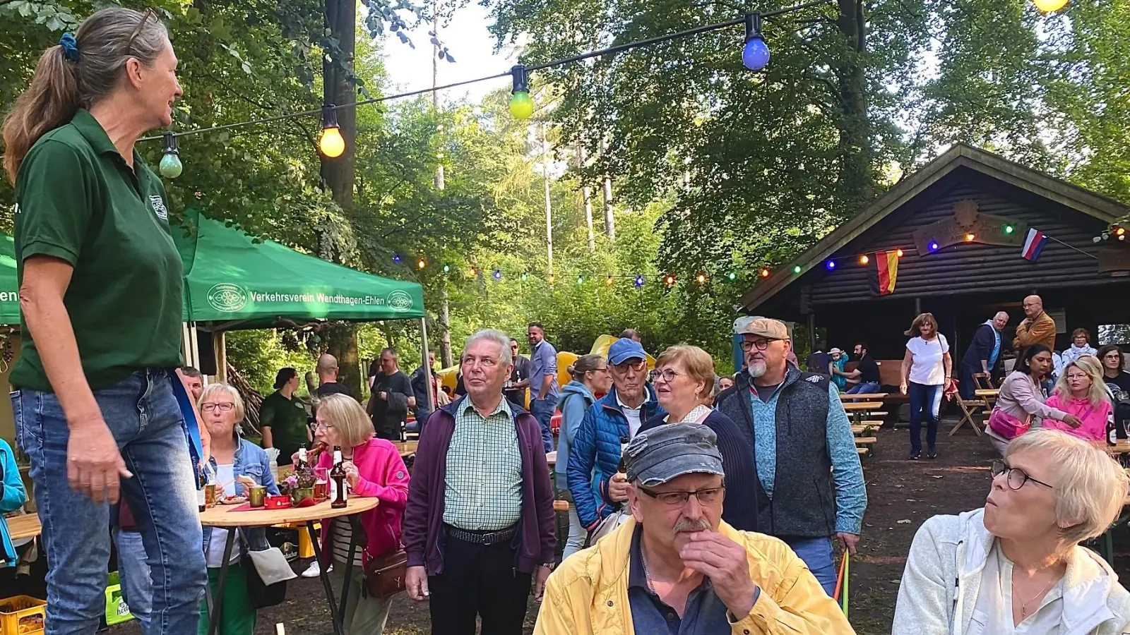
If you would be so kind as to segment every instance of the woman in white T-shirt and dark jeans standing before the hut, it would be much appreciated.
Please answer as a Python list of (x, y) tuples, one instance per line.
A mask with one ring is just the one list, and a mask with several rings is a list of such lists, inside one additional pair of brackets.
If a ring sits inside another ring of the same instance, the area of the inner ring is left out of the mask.
[(932, 313), (920, 313), (903, 334), (911, 338), (903, 356), (898, 391), (911, 400), (911, 461), (922, 456), (921, 421), (925, 416), (927, 459), (938, 458), (938, 408), (953, 376), (949, 342), (938, 332)]

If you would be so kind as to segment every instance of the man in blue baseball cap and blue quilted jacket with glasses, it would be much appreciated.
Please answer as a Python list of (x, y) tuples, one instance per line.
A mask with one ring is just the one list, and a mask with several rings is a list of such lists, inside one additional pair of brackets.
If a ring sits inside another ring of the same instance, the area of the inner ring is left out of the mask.
[(608, 347), (612, 389), (584, 415), (570, 446), (568, 489), (581, 524), (592, 531), (627, 501), (628, 484), (619, 469), (628, 441), (649, 418), (663, 414), (647, 384), (647, 354), (631, 338)]

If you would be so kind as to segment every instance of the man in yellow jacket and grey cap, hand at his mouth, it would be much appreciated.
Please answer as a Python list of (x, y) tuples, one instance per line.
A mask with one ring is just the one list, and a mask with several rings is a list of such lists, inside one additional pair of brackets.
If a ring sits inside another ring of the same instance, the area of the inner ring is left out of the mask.
[(788, 545), (721, 521), (713, 430), (660, 426), (625, 458), (633, 517), (549, 576), (534, 635), (854, 633)]

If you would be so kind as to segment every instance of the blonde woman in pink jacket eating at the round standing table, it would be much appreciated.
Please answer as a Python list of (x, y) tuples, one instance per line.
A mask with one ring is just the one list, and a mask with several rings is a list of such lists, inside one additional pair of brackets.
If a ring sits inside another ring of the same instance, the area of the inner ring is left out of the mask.
[[(346, 394), (328, 394), (318, 406), (315, 437), (329, 451), (318, 458), (316, 467), (329, 470), (333, 466), (333, 446), (341, 447), (342, 466), (349, 481), (349, 496), (372, 496), (380, 501), (373, 510), (360, 514), (365, 539), (358, 539), (364, 549), (355, 556), (349, 576), (349, 597), (346, 615), (341, 620), (346, 633), (380, 635), (389, 618), (391, 598), (381, 599), (362, 593), (365, 586), (365, 564), (373, 558), (394, 554), (400, 549), (400, 519), (408, 503), (408, 468), (391, 441), (375, 438), (373, 423), (365, 410)], [(346, 562), (349, 558), (350, 523), (340, 517), (322, 521), (322, 564), (333, 559), (330, 574), (339, 585), (345, 582)]]

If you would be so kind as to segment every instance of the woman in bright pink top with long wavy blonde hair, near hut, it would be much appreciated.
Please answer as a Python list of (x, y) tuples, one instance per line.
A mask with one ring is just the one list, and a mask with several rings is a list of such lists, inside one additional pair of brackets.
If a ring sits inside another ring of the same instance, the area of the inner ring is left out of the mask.
[(1072, 427), (1063, 421), (1045, 419), (1045, 428), (1061, 429), (1090, 441), (1105, 438), (1106, 418), (1112, 406), (1098, 358), (1083, 355), (1064, 366), (1055, 390), (1048, 398), (1048, 406), (1075, 415), (1081, 425)]

